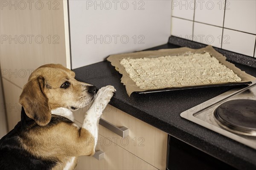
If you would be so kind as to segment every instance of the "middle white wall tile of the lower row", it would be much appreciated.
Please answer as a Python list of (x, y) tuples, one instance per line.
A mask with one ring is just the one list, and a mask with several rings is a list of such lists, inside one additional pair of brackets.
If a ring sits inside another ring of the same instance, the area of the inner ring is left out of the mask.
[(194, 23), (194, 41), (221, 48), (222, 28)]

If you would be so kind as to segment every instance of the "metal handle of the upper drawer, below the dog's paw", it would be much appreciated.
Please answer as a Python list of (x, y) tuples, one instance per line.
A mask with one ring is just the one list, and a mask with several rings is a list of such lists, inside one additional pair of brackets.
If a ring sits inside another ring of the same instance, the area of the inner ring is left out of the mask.
[(109, 123), (108, 121), (105, 121), (102, 118), (99, 119), (99, 124), (107, 128), (108, 130), (111, 130), (113, 133), (121, 136), (122, 138), (125, 138), (129, 135), (129, 129), (127, 127), (116, 127), (115, 125)]

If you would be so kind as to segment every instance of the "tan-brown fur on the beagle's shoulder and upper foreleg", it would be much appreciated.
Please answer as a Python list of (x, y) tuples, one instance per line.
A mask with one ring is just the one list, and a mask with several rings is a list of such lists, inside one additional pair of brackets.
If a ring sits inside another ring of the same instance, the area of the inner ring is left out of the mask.
[[(61, 122), (52, 127), (37, 127), (25, 133), (20, 142), (29, 153), (43, 159), (57, 160), (53, 170), (61, 170), (70, 161), (70, 157), (94, 154), (93, 136), (85, 129), (78, 130), (72, 122)], [(70, 126), (71, 125), (71, 126)], [(75, 161), (76, 161), (75, 160)], [(73, 164), (74, 169), (76, 164)]]

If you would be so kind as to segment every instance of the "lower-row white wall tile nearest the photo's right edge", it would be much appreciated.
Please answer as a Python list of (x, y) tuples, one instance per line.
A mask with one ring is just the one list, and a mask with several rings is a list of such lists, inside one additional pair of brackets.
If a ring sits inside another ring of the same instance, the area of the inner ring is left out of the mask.
[(256, 35), (224, 29), (222, 49), (253, 57)]

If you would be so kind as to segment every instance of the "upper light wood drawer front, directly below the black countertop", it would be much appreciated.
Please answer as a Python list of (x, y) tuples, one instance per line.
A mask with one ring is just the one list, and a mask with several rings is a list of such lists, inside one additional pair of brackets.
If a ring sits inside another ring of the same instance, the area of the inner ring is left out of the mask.
[(106, 107), (101, 118), (116, 127), (128, 128), (129, 135), (122, 138), (101, 125), (99, 125), (99, 134), (157, 169), (166, 169), (167, 133), (111, 105)]

